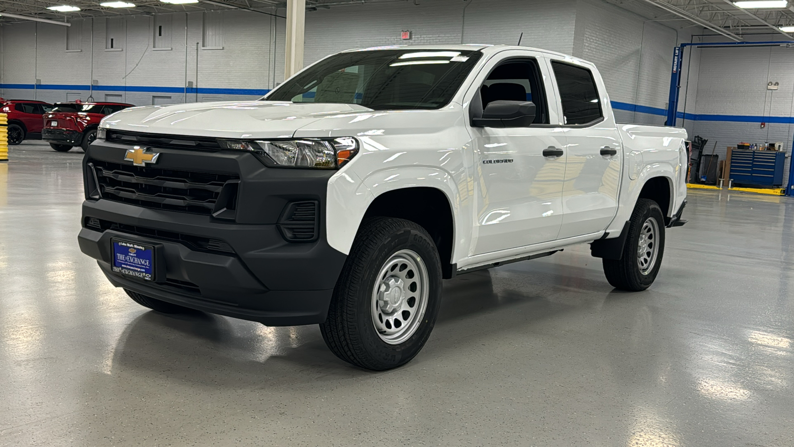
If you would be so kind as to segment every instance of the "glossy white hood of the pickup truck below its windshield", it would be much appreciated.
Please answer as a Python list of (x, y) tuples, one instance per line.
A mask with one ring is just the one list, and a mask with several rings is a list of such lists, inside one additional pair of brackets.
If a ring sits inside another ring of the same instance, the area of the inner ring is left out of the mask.
[(318, 119), (372, 112), (355, 104), (247, 101), (131, 107), (108, 115), (102, 126), (147, 134), (214, 138), (290, 138)]

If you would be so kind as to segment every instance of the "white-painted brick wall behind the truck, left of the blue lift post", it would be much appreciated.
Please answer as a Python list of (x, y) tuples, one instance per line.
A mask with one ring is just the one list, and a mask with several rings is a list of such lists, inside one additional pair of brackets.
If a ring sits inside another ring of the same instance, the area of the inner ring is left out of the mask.
[[(464, 17), (465, 8), (465, 17)], [(283, 10), (278, 10), (283, 15)], [(182, 102), (187, 80), (200, 88), (268, 89), (283, 81), (282, 18), (243, 10), (223, 10), (223, 49), (198, 50), (202, 13), (172, 14), (172, 49), (152, 49), (153, 18), (125, 17), (123, 51), (106, 51), (103, 17), (75, 21), (83, 26), (82, 51), (66, 52), (66, 30), (58, 25), (2, 25), (3, 84), (170, 87), (171, 92), (106, 91), (94, 89), (94, 99), (121, 94), (135, 104), (151, 104), (152, 95)], [(349, 48), (394, 44), (489, 43), (522, 45), (572, 53), (599, 64), (611, 99), (665, 107), (669, 63), (675, 32), (601, 0), (428, 0), (338, 6), (306, 14), (306, 63)], [(187, 28), (186, 28), (187, 24)], [(187, 54), (185, 30), (187, 29)], [(410, 41), (399, 33), (411, 31)], [(33, 57), (34, 33), (38, 51)], [(272, 36), (275, 35), (275, 42)], [(94, 42), (93, 76), (91, 41)], [(641, 49), (642, 43), (642, 49)], [(641, 73), (638, 76), (638, 72)], [(65, 100), (67, 93), (85, 90), (12, 90), (0, 95), (48, 101)], [(256, 98), (256, 95), (189, 93), (187, 101)], [(657, 115), (618, 111), (628, 122), (663, 122)]]

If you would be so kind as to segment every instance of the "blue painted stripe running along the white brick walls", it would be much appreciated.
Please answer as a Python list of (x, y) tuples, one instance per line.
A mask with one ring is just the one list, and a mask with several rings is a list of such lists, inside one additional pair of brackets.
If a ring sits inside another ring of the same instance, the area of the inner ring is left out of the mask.
[[(0, 84), (0, 88), (17, 90), (91, 90), (90, 85), (83, 84)], [(94, 85), (94, 91), (140, 91), (149, 93), (184, 93), (183, 87), (148, 87), (138, 85)], [(250, 95), (261, 96), (270, 91), (267, 88), (212, 88), (212, 87), (191, 87), (187, 89), (188, 95), (202, 93), (205, 95)], [(304, 95), (310, 97), (308, 95)], [(357, 95), (358, 96), (358, 95)], [(612, 108), (617, 111), (636, 111), (648, 115), (665, 116), (667, 111), (659, 107), (642, 106), (640, 104), (621, 103), (612, 101)], [(678, 119), (688, 119), (689, 121), (721, 121), (721, 122), (770, 122), (778, 124), (794, 124), (794, 117), (789, 116), (757, 116), (757, 115), (697, 115), (692, 113), (678, 112)]]

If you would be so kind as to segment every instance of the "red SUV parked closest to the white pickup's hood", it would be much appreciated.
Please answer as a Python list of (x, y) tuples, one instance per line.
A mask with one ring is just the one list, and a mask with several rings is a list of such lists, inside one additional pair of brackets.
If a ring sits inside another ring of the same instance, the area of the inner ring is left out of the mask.
[(52, 111), (44, 114), (44, 130), (41, 139), (50, 143), (52, 149), (66, 152), (74, 146), (88, 149), (97, 138), (97, 126), (105, 115), (127, 107), (125, 103), (56, 103)]

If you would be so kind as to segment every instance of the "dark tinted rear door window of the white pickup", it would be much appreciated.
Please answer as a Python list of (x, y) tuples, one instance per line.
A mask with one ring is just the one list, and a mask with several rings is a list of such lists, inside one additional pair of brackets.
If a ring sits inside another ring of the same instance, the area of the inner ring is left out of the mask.
[(603, 117), (598, 88), (590, 70), (555, 61), (551, 66), (560, 88), (565, 124), (588, 124)]

